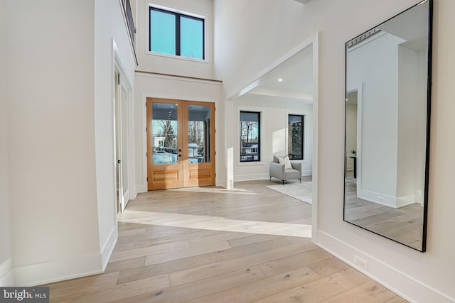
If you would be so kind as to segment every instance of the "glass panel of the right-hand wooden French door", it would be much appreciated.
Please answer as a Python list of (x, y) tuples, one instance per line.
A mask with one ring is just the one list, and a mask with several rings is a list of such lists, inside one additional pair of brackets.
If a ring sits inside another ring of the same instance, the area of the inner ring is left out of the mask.
[(210, 162), (210, 106), (188, 104), (188, 162)]

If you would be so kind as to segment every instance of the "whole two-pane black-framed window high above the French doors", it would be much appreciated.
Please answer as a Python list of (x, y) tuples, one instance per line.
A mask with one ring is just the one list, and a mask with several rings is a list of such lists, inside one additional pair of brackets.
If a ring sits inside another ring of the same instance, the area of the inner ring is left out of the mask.
[(150, 6), (149, 50), (205, 60), (204, 19)]

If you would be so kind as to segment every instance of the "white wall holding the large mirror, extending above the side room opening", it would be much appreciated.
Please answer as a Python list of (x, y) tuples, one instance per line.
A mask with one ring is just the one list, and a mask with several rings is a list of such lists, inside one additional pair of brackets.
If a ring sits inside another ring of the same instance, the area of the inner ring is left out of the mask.
[(455, 41), (450, 30), (455, 27), (454, 1), (436, 0), (434, 10), (427, 252), (419, 253), (343, 221), (345, 43), (417, 2), (317, 0), (301, 5), (291, 0), (215, 0), (215, 36), (223, 37), (215, 40), (216, 75), (230, 96), (254, 81), (270, 62), (319, 31), (319, 189), (314, 241), (350, 264), (354, 254), (363, 256), (369, 263), (368, 275), (412, 302), (453, 302), (455, 242), (449, 239), (455, 229), (451, 184)]

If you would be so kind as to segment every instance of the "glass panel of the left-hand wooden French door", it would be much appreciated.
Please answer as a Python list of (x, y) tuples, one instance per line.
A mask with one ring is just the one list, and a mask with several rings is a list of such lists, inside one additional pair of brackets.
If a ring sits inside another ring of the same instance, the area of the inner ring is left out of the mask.
[(178, 162), (177, 104), (154, 102), (151, 129), (153, 134), (153, 164)]

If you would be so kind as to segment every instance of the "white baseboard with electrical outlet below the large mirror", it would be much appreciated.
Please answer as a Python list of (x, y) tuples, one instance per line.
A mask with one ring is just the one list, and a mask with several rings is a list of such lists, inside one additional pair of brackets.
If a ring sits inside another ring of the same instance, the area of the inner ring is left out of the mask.
[[(318, 231), (316, 245), (328, 251), (328, 253), (335, 255), (336, 258), (348, 263), (348, 265), (362, 272), (364, 275), (367, 275), (389, 290), (392, 290), (392, 292), (395, 292), (409, 302), (455, 302), (455, 298), (449, 297), (429, 285), (425, 285), (423, 282), (383, 263), (371, 255), (366, 255), (353, 246), (350, 246), (348, 243), (340, 241), (328, 233)], [(365, 258), (365, 260), (368, 261), (368, 270), (365, 271), (356, 268), (353, 263), (354, 255), (359, 255), (361, 258)]]

